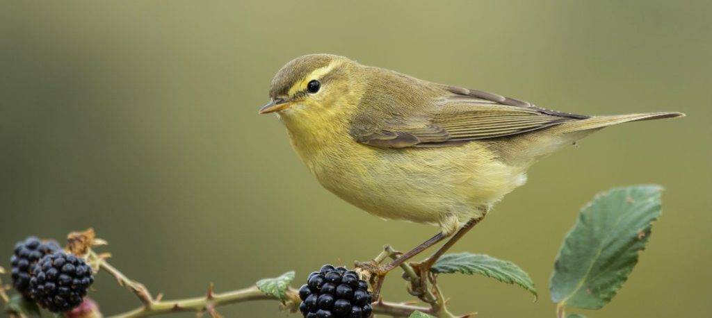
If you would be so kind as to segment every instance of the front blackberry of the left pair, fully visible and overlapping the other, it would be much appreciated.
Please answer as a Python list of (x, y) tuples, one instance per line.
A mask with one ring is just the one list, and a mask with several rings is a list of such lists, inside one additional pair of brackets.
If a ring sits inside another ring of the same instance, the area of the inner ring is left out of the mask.
[(91, 267), (81, 258), (60, 251), (43, 257), (30, 278), (33, 299), (51, 312), (66, 312), (82, 303), (94, 282)]

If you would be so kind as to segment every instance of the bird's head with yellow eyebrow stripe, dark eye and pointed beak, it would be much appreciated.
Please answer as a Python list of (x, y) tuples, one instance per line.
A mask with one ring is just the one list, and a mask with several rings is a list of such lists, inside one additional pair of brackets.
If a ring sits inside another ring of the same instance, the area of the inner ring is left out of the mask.
[(283, 119), (300, 121), (346, 117), (358, 98), (360, 82), (358, 64), (348, 58), (330, 54), (300, 56), (274, 76), (270, 102), (259, 112), (276, 112)]

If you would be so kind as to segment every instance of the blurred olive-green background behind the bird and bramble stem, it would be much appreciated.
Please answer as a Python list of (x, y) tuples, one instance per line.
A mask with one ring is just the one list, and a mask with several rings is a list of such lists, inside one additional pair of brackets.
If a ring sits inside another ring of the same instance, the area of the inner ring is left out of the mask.
[[(454, 251), (513, 260), (540, 290), (443, 277), (454, 312), (554, 317), (548, 280), (578, 209), (666, 187), (619, 295), (590, 317), (712, 314), (709, 1), (6, 1), (0, 10), (0, 264), (16, 240), (94, 227), (112, 263), (168, 298), (352, 265), (436, 228), (382, 221), (322, 189), (273, 116), (288, 60), (336, 53), (583, 114), (674, 110), (543, 160)], [(388, 280), (388, 300), (409, 299)], [(102, 275), (104, 312), (137, 305)], [(284, 317), (274, 302), (226, 317)], [(184, 317), (193, 317), (191, 314)], [(295, 316), (294, 316), (295, 317)]]

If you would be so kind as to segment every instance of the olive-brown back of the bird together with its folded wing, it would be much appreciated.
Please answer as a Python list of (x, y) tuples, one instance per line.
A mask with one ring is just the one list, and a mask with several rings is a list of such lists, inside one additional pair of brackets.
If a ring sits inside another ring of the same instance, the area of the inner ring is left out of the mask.
[(363, 66), (368, 84), (350, 133), (375, 147), (457, 146), (588, 118), (501, 95)]

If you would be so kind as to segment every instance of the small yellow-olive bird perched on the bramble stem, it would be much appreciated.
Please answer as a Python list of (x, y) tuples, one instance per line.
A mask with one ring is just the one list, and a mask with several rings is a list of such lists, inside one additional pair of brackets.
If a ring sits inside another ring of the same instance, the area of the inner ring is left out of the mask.
[(269, 97), (259, 113), (277, 114), (326, 189), (375, 216), (439, 227), (378, 275), (452, 236), (432, 265), (538, 159), (613, 124), (684, 116), (574, 115), (328, 54), (284, 65)]

